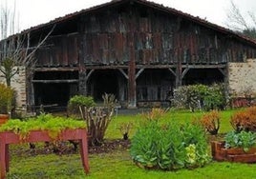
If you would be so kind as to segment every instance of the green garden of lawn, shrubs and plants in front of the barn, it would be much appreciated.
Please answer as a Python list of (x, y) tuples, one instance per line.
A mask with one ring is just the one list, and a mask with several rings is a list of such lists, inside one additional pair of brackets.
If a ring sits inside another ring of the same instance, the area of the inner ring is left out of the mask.
[[(53, 141), (10, 145), (7, 178), (253, 178), (255, 161), (234, 158), (255, 157), (256, 108), (227, 109), (222, 91), (220, 85), (183, 87), (175, 91), (172, 108), (137, 114), (118, 113), (111, 94), (103, 95), (100, 106), (92, 97), (74, 96), (69, 117), (44, 112), (11, 117), (1, 132), (14, 131), (26, 141), (33, 129), (49, 130)], [(84, 128), (89, 174), (77, 141), (58, 140), (63, 129)]]

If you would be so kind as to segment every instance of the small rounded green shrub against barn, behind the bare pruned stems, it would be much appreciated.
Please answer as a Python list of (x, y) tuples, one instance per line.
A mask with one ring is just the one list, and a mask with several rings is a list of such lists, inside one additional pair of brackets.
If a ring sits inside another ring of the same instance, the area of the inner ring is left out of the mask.
[(96, 103), (92, 96), (85, 95), (75, 95), (73, 96), (68, 103), (68, 111), (73, 114), (79, 113), (79, 107), (95, 107)]

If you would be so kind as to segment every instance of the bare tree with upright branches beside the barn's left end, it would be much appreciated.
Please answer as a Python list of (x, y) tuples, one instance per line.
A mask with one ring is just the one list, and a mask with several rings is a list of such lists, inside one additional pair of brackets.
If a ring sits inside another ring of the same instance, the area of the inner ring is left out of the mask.
[[(15, 7), (15, 5), (14, 5)], [(35, 63), (34, 53), (43, 46), (47, 38), (53, 32), (53, 28), (44, 37), (38, 37), (37, 43), (31, 44), (31, 32), (16, 33), (15, 8), (10, 10), (8, 6), (1, 7), (0, 14), (0, 71), (4, 74), (6, 83), (11, 86), (11, 78), (18, 72), (18, 66), (32, 68)], [(8, 37), (8, 35), (12, 34)]]

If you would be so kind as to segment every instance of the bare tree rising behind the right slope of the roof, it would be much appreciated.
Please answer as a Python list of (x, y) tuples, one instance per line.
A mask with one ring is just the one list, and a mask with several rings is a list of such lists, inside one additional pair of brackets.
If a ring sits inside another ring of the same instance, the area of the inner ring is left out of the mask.
[(231, 8), (226, 13), (226, 26), (231, 30), (256, 38), (255, 14), (252, 11), (247, 11), (243, 14), (233, 0), (230, 0), (230, 5)]

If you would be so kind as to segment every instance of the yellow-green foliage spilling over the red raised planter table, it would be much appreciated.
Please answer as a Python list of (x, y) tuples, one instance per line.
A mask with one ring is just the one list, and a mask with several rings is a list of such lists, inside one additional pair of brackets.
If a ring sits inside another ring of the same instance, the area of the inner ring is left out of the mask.
[(61, 130), (78, 128), (85, 128), (85, 123), (73, 118), (55, 117), (52, 114), (42, 113), (37, 117), (32, 117), (24, 121), (11, 119), (0, 127), (0, 131), (13, 131), (19, 134), (21, 139), (26, 139), (32, 130), (47, 130), (50, 137), (54, 139)]

